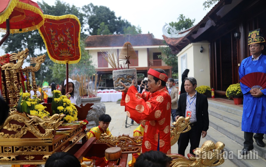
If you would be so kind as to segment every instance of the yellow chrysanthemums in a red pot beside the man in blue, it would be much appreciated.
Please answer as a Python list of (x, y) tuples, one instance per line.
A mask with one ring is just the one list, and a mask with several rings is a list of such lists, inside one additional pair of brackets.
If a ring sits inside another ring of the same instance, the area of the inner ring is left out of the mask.
[(230, 85), (225, 93), (228, 99), (233, 98), (235, 104), (242, 104), (243, 93), (240, 88), (240, 83)]

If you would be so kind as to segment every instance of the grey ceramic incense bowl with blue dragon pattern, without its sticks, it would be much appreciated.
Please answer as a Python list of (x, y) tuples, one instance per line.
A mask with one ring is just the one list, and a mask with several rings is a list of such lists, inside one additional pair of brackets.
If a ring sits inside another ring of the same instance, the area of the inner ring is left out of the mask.
[(131, 85), (133, 79), (135, 80), (134, 86), (137, 88), (136, 68), (114, 70), (113, 71), (114, 90), (124, 89), (124, 87), (120, 84), (120, 82), (122, 82), (126, 86)]

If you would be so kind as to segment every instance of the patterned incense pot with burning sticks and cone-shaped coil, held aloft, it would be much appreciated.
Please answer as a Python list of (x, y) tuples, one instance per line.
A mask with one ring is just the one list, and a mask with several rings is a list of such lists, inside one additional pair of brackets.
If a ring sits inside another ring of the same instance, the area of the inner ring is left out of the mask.
[(136, 68), (129, 68), (130, 66), (130, 60), (132, 59), (138, 59), (137, 53), (135, 52), (133, 46), (130, 42), (126, 42), (123, 45), (123, 48), (121, 50), (121, 53), (119, 55), (119, 61), (122, 61), (122, 63), (119, 63), (117, 60), (117, 56), (114, 52), (104, 54), (102, 53), (104, 59), (111, 65), (113, 70), (113, 82), (114, 82), (114, 90), (122, 90), (124, 87), (120, 84), (122, 82), (123, 84), (129, 86), (132, 83), (132, 80), (134, 79), (134, 86), (137, 88), (137, 70)]

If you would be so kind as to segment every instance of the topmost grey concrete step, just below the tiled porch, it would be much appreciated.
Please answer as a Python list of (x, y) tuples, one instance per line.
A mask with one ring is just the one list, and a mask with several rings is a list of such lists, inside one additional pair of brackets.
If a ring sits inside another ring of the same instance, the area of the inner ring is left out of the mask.
[(214, 116), (229, 124), (232, 124), (235, 127), (241, 128), (241, 121), (242, 121), (241, 116), (228, 113), (226, 111), (219, 110), (216, 107), (211, 107), (211, 106), (209, 106), (208, 111), (209, 111), (209, 115)]

